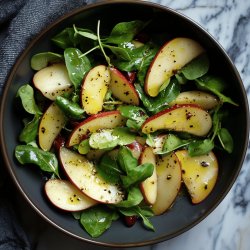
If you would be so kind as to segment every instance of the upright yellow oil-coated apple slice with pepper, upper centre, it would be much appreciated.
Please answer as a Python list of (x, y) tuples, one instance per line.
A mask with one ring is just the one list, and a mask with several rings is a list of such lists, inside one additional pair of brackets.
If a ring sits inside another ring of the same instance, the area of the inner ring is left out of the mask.
[(110, 84), (110, 73), (105, 65), (92, 68), (83, 80), (81, 89), (82, 107), (89, 115), (102, 110), (103, 101)]

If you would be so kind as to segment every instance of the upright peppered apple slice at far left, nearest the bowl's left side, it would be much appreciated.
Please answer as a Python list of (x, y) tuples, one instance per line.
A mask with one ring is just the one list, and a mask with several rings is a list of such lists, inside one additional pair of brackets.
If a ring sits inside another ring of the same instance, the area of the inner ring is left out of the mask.
[(38, 129), (38, 142), (41, 149), (49, 151), (54, 140), (65, 126), (67, 118), (53, 102), (44, 112)]

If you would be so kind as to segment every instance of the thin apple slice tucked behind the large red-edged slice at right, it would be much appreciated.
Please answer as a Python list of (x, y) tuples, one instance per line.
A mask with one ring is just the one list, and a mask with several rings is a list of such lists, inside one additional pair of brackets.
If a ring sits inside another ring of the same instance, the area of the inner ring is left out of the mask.
[(209, 110), (215, 108), (219, 104), (219, 101), (212, 94), (192, 90), (180, 93), (174, 101), (169, 103), (169, 106), (176, 104), (197, 104), (202, 109)]

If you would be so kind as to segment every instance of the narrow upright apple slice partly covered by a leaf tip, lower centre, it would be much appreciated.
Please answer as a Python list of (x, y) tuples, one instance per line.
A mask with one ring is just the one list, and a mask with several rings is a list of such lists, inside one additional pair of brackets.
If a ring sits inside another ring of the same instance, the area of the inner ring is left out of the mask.
[(140, 189), (146, 203), (152, 205), (156, 201), (157, 196), (157, 175), (156, 175), (156, 160), (151, 147), (145, 147), (141, 153), (140, 164), (152, 163), (154, 165), (153, 174), (141, 182)]

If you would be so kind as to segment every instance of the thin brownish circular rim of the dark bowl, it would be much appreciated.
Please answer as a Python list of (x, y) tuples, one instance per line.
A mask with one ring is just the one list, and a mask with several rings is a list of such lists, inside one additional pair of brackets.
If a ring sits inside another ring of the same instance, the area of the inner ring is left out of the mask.
[[(206, 36), (208, 36), (213, 43), (218, 47), (218, 49), (223, 53), (223, 56), (225, 57), (225, 59), (228, 61), (228, 63), (230, 64), (231, 68), (234, 71), (234, 74), (237, 77), (238, 83), (240, 85), (240, 89), (242, 91), (243, 97), (244, 97), (244, 104), (245, 104), (245, 108), (247, 110), (247, 114), (246, 114), (246, 131), (245, 134), (247, 136), (248, 139), (246, 139), (245, 143), (244, 143), (244, 151), (242, 152), (241, 155), (241, 159), (240, 159), (240, 165), (239, 168), (237, 169), (235, 175), (232, 178), (232, 182), (228, 185), (227, 189), (224, 190), (224, 193), (222, 196), (220, 196), (219, 199), (217, 199), (214, 202), (214, 205), (206, 211), (206, 213), (199, 217), (198, 219), (196, 219), (192, 224), (186, 226), (185, 228), (178, 230), (174, 233), (172, 233), (171, 235), (163, 235), (163, 236), (159, 236), (153, 240), (147, 240), (147, 241), (143, 241), (143, 242), (136, 242), (136, 243), (106, 243), (106, 242), (101, 242), (98, 241), (98, 238), (92, 238), (92, 239), (87, 239), (84, 237), (80, 237), (78, 235), (75, 235), (74, 233), (64, 229), (63, 227), (59, 226), (56, 224), (56, 222), (54, 222), (53, 220), (49, 219), (40, 209), (39, 207), (37, 207), (35, 204), (33, 204), (32, 200), (29, 198), (28, 194), (26, 194), (22, 187), (21, 184), (18, 181), (18, 178), (15, 174), (15, 172), (13, 171), (13, 168), (11, 166), (11, 163), (8, 159), (8, 154), (7, 154), (7, 149), (5, 147), (5, 140), (4, 140), (4, 131), (3, 131), (3, 114), (4, 114), (4, 109), (5, 109), (5, 105), (6, 105), (6, 98), (8, 95), (8, 91), (9, 88), (11, 86), (13, 77), (16, 74), (16, 71), (18, 69), (18, 67), (20, 66), (20, 64), (23, 61), (23, 58), (25, 58), (25, 56), (27, 55), (27, 53), (29, 52), (29, 50), (34, 46), (34, 44), (39, 41), (43, 36), (46, 35), (46, 33), (50, 30), (52, 30), (55, 26), (57, 26), (59, 23), (61, 23), (62, 21), (80, 14), (83, 11), (86, 10), (91, 10), (94, 8), (97, 8), (99, 6), (103, 6), (103, 5), (115, 5), (118, 3), (126, 3), (126, 4), (136, 4), (136, 5), (142, 5), (142, 6), (148, 6), (148, 7), (153, 7), (156, 9), (159, 9), (161, 11), (167, 11), (173, 15), (176, 15), (178, 17), (180, 17), (181, 19), (191, 23), (193, 26), (195, 26), (195, 28), (200, 29), (203, 33), (206, 34)], [(211, 212), (213, 212), (215, 210), (215, 208), (223, 201), (223, 199), (225, 198), (225, 196), (228, 194), (228, 192), (231, 190), (233, 184), (235, 183), (245, 160), (245, 156), (246, 156), (246, 152), (247, 152), (247, 145), (248, 145), (248, 140), (249, 140), (249, 124), (250, 124), (250, 120), (249, 120), (249, 105), (248, 105), (248, 98), (247, 98), (247, 94), (246, 94), (246, 90), (244, 87), (244, 84), (242, 82), (242, 79), (240, 77), (240, 74), (236, 68), (236, 66), (234, 65), (234, 63), (232, 62), (231, 58), (229, 57), (229, 55), (227, 54), (227, 52), (225, 51), (225, 49), (222, 47), (222, 45), (207, 31), (205, 30), (205, 28), (203, 28), (200, 24), (198, 24), (196, 21), (194, 21), (193, 19), (191, 19), (190, 17), (186, 16), (183, 13), (178, 12), (178, 10), (174, 10), (170, 7), (161, 5), (159, 3), (154, 3), (154, 2), (148, 2), (145, 0), (112, 0), (112, 1), (108, 1), (108, 0), (101, 0), (95, 3), (91, 3), (91, 4), (87, 4), (81, 7), (78, 7), (76, 9), (71, 10), (68, 13), (63, 14), (62, 16), (60, 16), (59, 18), (57, 18), (56, 20), (52, 21), (47, 27), (45, 27), (44, 29), (42, 29), (37, 35), (35, 35), (33, 37), (33, 39), (31, 39), (31, 41), (28, 42), (27, 46), (25, 47), (25, 49), (20, 53), (19, 57), (17, 58), (17, 60), (15, 61), (14, 65), (12, 66), (9, 75), (7, 76), (7, 81), (4, 85), (3, 88), (3, 92), (2, 92), (2, 98), (1, 98), (1, 106), (0, 106), (0, 148), (1, 148), (1, 153), (4, 159), (4, 167), (7, 168), (12, 181), (14, 181), (16, 187), (18, 188), (18, 190), (20, 191), (20, 193), (22, 194), (22, 196), (25, 198), (25, 200), (27, 201), (27, 203), (36, 211), (36, 213), (38, 215), (40, 215), (45, 221), (47, 221), (50, 225), (54, 226), (55, 228), (59, 229), (60, 231), (66, 233), (67, 235), (76, 238), (78, 240), (82, 240), (86, 243), (90, 243), (90, 244), (96, 244), (96, 245), (100, 245), (100, 246), (105, 246), (105, 247), (139, 247), (139, 246), (146, 246), (146, 245), (152, 245), (152, 244), (156, 244), (156, 243), (160, 243), (162, 241), (166, 241), (169, 240), (171, 238), (174, 238), (186, 231), (188, 231), (189, 229), (193, 228), (194, 226), (196, 226), (198, 223), (200, 223), (202, 220), (204, 220), (206, 217), (208, 217), (209, 214), (211, 214)]]

